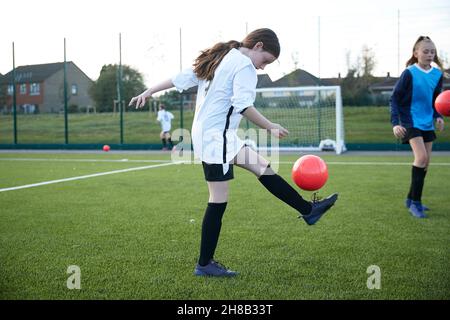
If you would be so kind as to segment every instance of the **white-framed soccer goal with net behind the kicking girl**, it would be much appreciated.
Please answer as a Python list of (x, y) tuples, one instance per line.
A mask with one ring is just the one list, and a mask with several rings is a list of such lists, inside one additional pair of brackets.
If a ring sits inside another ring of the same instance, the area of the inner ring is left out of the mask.
[[(255, 107), (289, 130), (289, 136), (279, 141), (280, 150), (346, 151), (339, 86), (261, 88), (256, 90)], [(244, 123), (247, 129), (254, 128)]]

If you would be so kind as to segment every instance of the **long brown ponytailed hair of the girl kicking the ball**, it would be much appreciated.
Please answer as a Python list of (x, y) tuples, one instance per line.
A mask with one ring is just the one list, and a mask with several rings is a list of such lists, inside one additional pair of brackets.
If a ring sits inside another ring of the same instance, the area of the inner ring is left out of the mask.
[(240, 47), (253, 49), (258, 42), (262, 42), (263, 49), (275, 58), (280, 56), (280, 43), (277, 35), (270, 29), (262, 28), (249, 33), (242, 42), (236, 40), (219, 42), (211, 48), (203, 50), (195, 59), (194, 73), (199, 79), (212, 80), (216, 68), (231, 49)]

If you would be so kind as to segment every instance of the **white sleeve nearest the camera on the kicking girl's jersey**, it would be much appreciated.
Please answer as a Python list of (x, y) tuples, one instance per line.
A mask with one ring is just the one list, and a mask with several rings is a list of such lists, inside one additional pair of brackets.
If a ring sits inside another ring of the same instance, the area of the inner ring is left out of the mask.
[(258, 76), (255, 68), (251, 65), (247, 65), (236, 73), (233, 80), (231, 105), (237, 112), (242, 113), (248, 107), (253, 106), (257, 82)]

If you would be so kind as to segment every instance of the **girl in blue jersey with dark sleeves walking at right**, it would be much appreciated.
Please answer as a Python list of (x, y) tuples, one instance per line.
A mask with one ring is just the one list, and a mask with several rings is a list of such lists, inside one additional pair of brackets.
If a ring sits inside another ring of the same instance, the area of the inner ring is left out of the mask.
[(414, 154), (405, 204), (416, 218), (425, 218), (424, 211), (428, 210), (422, 204), (422, 190), (436, 139), (434, 124), (439, 131), (444, 130), (444, 120), (434, 108), (434, 101), (442, 91), (443, 73), (433, 67), (432, 62), (443, 70), (433, 41), (420, 36), (391, 96), (394, 135), (404, 144), (409, 143)]

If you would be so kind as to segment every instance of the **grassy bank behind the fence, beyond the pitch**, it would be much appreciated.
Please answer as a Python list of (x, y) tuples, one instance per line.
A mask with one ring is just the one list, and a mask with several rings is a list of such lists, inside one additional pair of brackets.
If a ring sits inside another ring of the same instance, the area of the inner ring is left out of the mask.
[[(289, 112), (277, 112), (272, 109), (261, 109), (264, 115), (290, 130), (290, 137), (283, 140), (287, 143), (301, 143), (303, 140), (319, 139), (317, 115), (305, 113), (300, 120)], [(276, 110), (275, 110), (276, 111)], [(175, 120), (173, 129), (180, 127), (180, 112), (172, 111)], [(387, 107), (345, 107), (344, 127), (347, 143), (396, 143), (392, 134), (389, 109)], [(119, 143), (120, 117), (118, 114), (69, 114), (69, 143)], [(160, 144), (159, 123), (154, 113), (127, 112), (124, 115), (124, 142), (129, 144)], [(185, 111), (183, 127), (191, 129), (192, 111)], [(300, 124), (299, 124), (300, 123)], [(323, 126), (323, 124), (322, 124)], [(19, 115), (17, 120), (19, 143), (64, 143), (64, 115), (38, 114)], [(245, 121), (241, 127), (246, 128)], [(297, 128), (297, 129), (295, 129)], [(305, 130), (306, 129), (306, 130)], [(329, 130), (328, 130), (329, 131)], [(306, 134), (312, 135), (306, 137)], [(327, 135), (327, 130), (322, 131)], [(331, 134), (334, 134), (331, 132)], [(450, 130), (438, 132), (436, 142), (450, 142)], [(0, 143), (13, 143), (13, 118), (11, 115), (0, 115)], [(319, 140), (320, 141), (320, 140)]]

